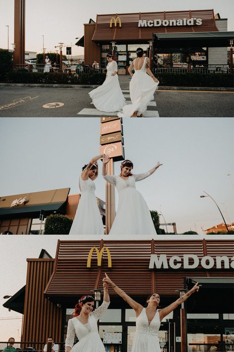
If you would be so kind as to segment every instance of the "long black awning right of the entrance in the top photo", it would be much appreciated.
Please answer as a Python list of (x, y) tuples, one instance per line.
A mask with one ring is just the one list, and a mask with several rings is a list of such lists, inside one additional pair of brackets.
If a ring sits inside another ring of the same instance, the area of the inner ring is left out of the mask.
[(153, 33), (157, 48), (175, 47), (229, 47), (234, 32), (196, 32), (196, 33)]

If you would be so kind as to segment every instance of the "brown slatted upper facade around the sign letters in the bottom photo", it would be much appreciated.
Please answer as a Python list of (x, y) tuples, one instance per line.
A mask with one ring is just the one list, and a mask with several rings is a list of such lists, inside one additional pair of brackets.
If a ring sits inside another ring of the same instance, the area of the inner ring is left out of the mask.
[[(87, 268), (87, 259), (93, 246), (107, 246), (111, 253), (112, 268), (107, 265), (104, 252), (102, 266), (97, 267), (97, 255), (93, 253), (92, 267)], [(204, 269), (200, 264), (196, 269), (149, 269), (151, 254), (167, 256), (195, 254), (200, 259), (234, 256), (233, 240), (101, 240), (101, 241), (58, 241), (53, 274), (45, 289), (46, 296), (77, 296), (102, 288), (104, 273), (110, 275), (116, 285), (126, 293), (141, 296), (157, 292), (165, 296), (176, 296), (175, 290), (183, 288), (184, 277), (233, 277), (233, 269)], [(169, 258), (168, 258), (169, 262)], [(191, 260), (190, 264), (193, 263)], [(99, 278), (97, 281), (96, 278)], [(136, 278), (137, 283), (136, 285)], [(111, 291), (111, 295), (116, 295)]]

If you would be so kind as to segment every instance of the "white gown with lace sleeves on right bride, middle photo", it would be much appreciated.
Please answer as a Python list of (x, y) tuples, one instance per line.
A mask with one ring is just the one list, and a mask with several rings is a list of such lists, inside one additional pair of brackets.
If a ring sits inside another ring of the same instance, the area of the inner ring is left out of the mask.
[(109, 235), (156, 235), (149, 208), (136, 189), (135, 182), (149, 176), (149, 172), (129, 176), (106, 175), (104, 179), (116, 186), (119, 204)]

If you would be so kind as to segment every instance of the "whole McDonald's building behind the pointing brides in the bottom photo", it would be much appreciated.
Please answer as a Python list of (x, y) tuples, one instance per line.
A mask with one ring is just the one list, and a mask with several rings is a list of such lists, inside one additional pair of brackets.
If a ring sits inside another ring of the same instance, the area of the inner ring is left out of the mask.
[[(40, 258), (27, 259), (26, 286), (3, 305), (24, 314), (21, 341), (31, 341), (39, 350), (37, 344), (53, 336), (63, 351), (75, 303), (83, 294), (102, 289), (105, 272), (143, 305), (150, 293), (159, 293), (161, 308), (179, 297), (176, 290), (198, 282), (199, 292), (186, 301), (182, 330), (181, 307), (163, 319), (162, 351), (180, 352), (182, 332), (188, 352), (210, 351), (211, 346), (233, 351), (234, 242), (187, 238), (58, 240), (55, 259), (45, 250)], [(109, 293), (111, 304), (99, 320), (100, 337), (106, 351), (131, 352), (135, 312), (113, 289)]]

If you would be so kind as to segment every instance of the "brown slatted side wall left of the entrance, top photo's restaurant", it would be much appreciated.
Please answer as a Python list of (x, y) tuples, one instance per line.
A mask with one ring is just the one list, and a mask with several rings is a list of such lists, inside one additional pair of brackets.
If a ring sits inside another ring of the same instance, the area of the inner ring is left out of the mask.
[(92, 65), (94, 60), (100, 62), (100, 46), (92, 41), (96, 24), (84, 24), (84, 61), (86, 65)]

